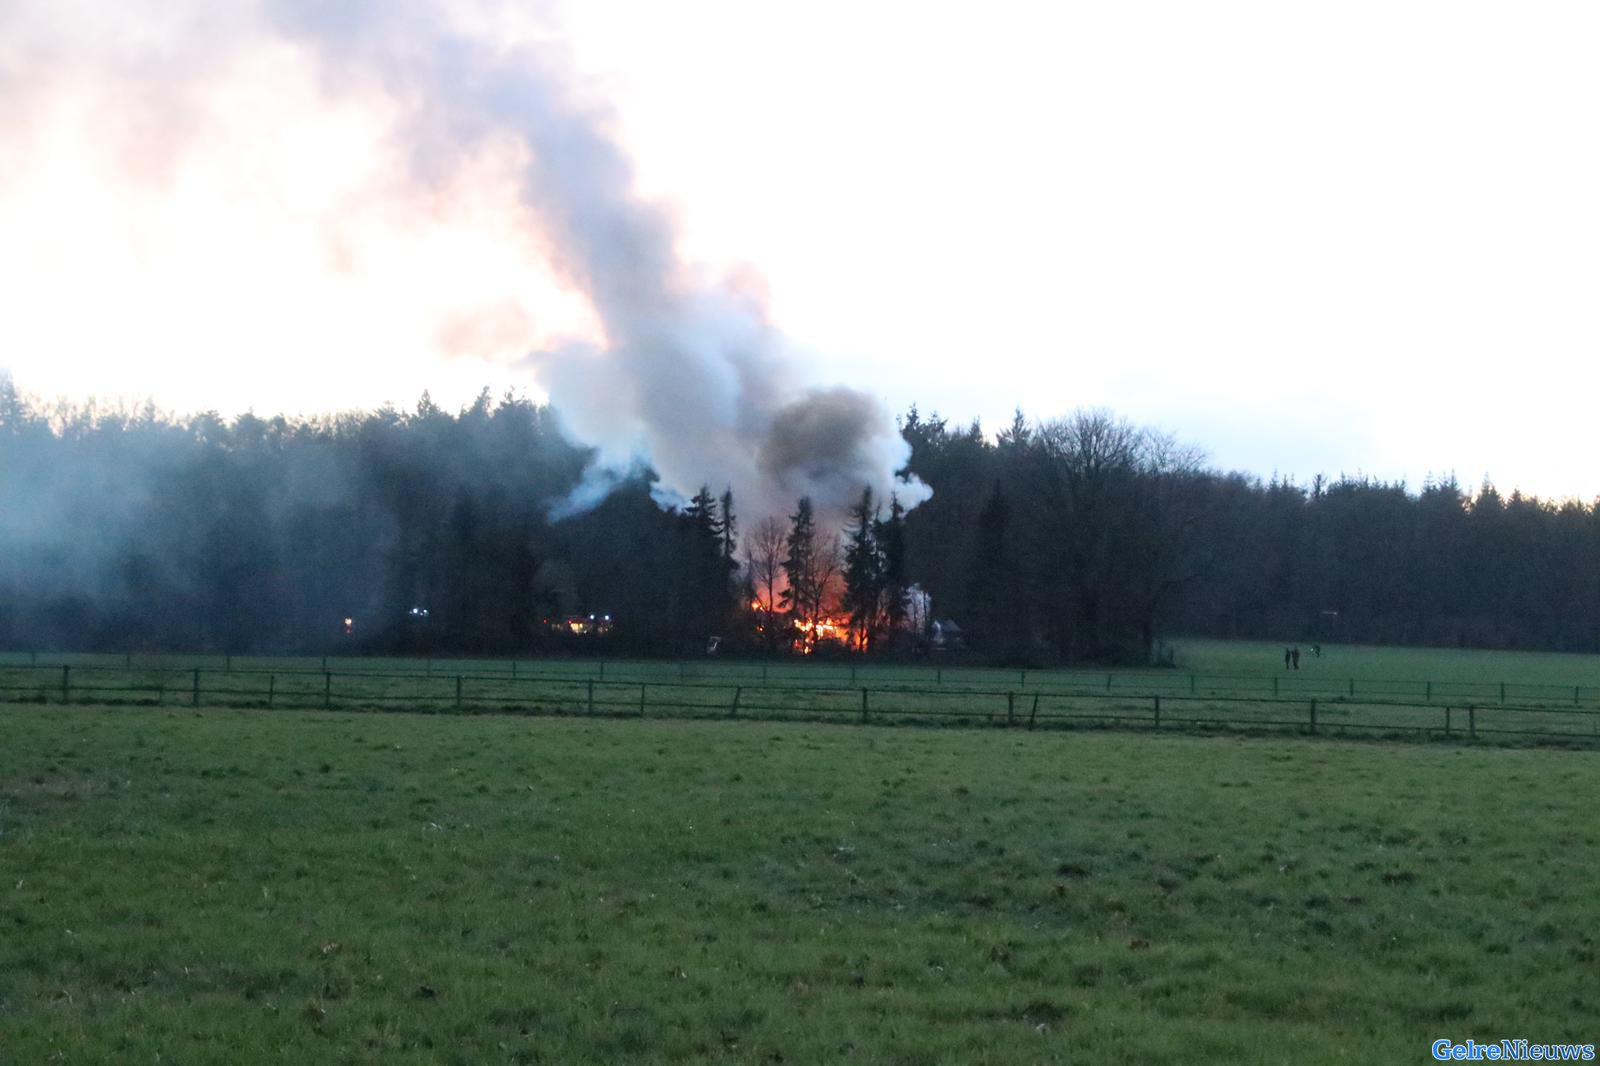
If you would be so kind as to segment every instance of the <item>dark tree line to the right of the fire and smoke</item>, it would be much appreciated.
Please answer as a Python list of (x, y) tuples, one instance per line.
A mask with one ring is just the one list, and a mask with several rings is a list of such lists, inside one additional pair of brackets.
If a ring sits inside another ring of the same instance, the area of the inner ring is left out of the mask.
[(1158, 632), (1600, 651), (1600, 501), (1264, 482), (1106, 411), (902, 431), (934, 487), (910, 571), (990, 656), (1141, 661)]

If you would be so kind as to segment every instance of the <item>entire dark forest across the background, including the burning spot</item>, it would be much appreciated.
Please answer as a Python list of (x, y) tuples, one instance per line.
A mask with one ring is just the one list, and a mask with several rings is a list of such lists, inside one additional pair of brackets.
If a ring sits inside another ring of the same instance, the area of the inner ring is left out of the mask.
[[(1600, 651), (1600, 506), (1216, 471), (1102, 410), (901, 419), (914, 509), (662, 506), (555, 410), (54, 407), (0, 375), (0, 645), (1144, 663), (1163, 635)], [(685, 432), (693, 432), (686, 427)], [(834, 528), (837, 525), (837, 528)], [(590, 615), (594, 621), (590, 621)], [(930, 640), (934, 623), (960, 640)], [(952, 632), (955, 631), (952, 629)]]

